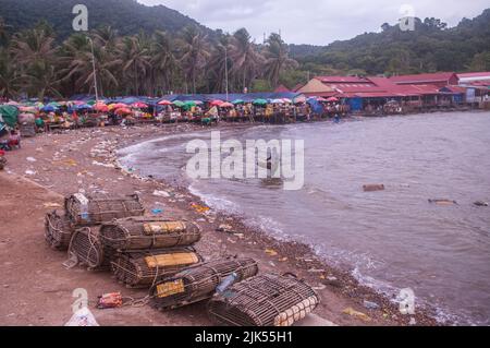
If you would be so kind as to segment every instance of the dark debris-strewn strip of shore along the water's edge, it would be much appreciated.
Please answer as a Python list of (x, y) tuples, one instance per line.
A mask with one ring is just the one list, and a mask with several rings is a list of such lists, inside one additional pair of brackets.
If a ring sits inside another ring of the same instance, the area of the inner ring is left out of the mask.
[[(383, 117), (390, 117), (390, 116), (383, 116)], [(344, 120), (344, 122), (355, 122), (359, 121), (363, 118), (359, 117), (350, 117)], [(226, 129), (229, 124), (225, 124), (224, 129)], [(243, 128), (249, 129), (253, 127), (260, 127), (259, 124), (247, 124)], [(291, 124), (290, 124), (291, 125)], [(218, 130), (222, 130), (223, 128), (220, 127)], [(203, 129), (203, 131), (206, 129)], [(212, 129), (211, 129), (212, 130)], [(191, 132), (195, 132), (196, 130), (192, 130)], [(155, 141), (162, 137), (160, 136), (151, 136), (149, 139), (143, 140), (139, 144)], [(138, 144), (136, 144), (138, 145)], [(117, 151), (121, 151), (126, 148), (126, 146), (121, 145), (118, 146)], [(123, 170), (127, 170), (123, 165), (119, 163), (119, 158), (117, 161), (117, 166), (121, 167)], [(138, 172), (137, 168), (133, 168), (133, 173), (136, 175)], [(137, 176), (137, 175), (136, 175)], [(139, 180), (147, 180), (146, 177), (137, 176)], [(155, 179), (149, 178), (150, 180), (155, 180), (157, 182), (163, 183), (166, 187), (172, 188), (179, 194), (184, 196), (191, 196), (192, 202), (198, 203), (201, 206), (209, 207), (207, 203), (197, 194), (194, 194), (191, 192), (191, 189), (187, 187), (182, 185), (179, 183), (177, 185), (174, 185), (170, 182), (168, 182), (164, 179)], [(182, 208), (186, 209), (188, 208), (186, 205), (191, 202), (175, 202), (176, 205)], [(210, 208), (212, 209), (212, 208)], [(417, 313), (415, 315), (402, 315), (400, 313), (399, 303), (394, 302), (395, 299), (390, 297), (387, 293), (382, 293), (377, 291), (376, 289), (362, 285), (358, 279), (356, 279), (352, 275), (352, 269), (341, 269), (341, 267), (332, 266), (329, 264), (324, 259), (322, 259), (320, 255), (318, 255), (310, 244), (302, 243), (294, 240), (280, 240), (275, 237), (273, 237), (271, 233), (268, 233), (267, 230), (260, 227), (254, 227), (250, 226), (250, 224), (247, 224), (246, 217), (240, 214), (235, 213), (225, 213), (222, 209), (215, 209), (212, 223), (213, 225), (221, 226), (221, 225), (228, 225), (232, 227), (231, 231), (219, 231), (216, 230), (217, 233), (222, 233), (223, 237), (236, 237), (240, 236), (241, 238), (235, 239), (232, 243), (240, 243), (244, 239), (248, 241), (248, 243), (254, 243), (255, 248), (258, 248), (260, 250), (272, 250), (278, 253), (278, 255), (274, 255), (273, 257), (270, 257), (271, 260), (269, 263), (273, 263), (275, 265), (278, 261), (283, 262), (284, 265), (290, 266), (292, 269), (299, 269), (302, 272), (303, 278), (307, 279), (308, 284), (315, 288), (315, 290), (320, 291), (324, 289), (329, 289), (331, 291), (334, 291), (335, 293), (339, 293), (343, 297), (347, 297), (350, 299), (354, 299), (355, 302), (358, 302), (359, 311), (364, 313), (371, 313), (378, 312), (376, 314), (379, 314), (379, 312), (382, 312), (382, 319), (387, 320), (387, 314), (389, 316), (388, 321), (394, 321), (397, 325), (414, 325), (411, 324), (412, 320), (415, 320), (415, 325), (427, 325), (427, 326), (436, 326), (436, 325), (450, 325), (449, 322), (446, 323), (440, 323), (436, 319), (437, 309), (430, 309), (430, 308), (418, 308)], [(243, 235), (244, 237), (242, 237)], [(287, 259), (287, 260), (284, 260)], [(282, 261), (284, 260), (284, 261)], [(379, 309), (377, 310), (368, 310), (364, 307), (363, 301), (369, 301), (379, 304)], [(390, 323), (392, 325), (393, 323)]]

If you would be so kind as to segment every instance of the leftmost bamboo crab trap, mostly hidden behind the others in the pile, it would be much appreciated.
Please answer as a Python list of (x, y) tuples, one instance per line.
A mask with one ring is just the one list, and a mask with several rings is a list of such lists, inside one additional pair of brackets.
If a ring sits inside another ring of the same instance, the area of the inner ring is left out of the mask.
[(57, 211), (46, 214), (45, 239), (56, 250), (66, 250), (75, 231), (70, 218)]

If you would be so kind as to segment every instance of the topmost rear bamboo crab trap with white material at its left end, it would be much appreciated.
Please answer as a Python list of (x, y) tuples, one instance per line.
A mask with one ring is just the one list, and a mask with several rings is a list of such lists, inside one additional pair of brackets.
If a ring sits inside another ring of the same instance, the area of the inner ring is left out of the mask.
[(76, 193), (65, 199), (66, 214), (76, 226), (96, 226), (117, 218), (142, 216), (145, 209), (137, 194), (86, 197)]

